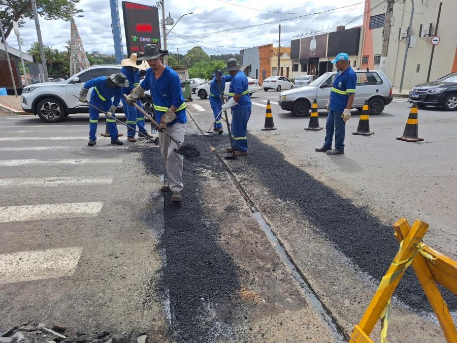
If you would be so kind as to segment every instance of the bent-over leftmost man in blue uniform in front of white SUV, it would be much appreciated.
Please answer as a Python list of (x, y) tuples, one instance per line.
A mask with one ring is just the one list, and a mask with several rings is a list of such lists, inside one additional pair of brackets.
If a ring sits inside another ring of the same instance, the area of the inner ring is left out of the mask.
[[(100, 76), (84, 83), (83, 88), (79, 93), (79, 101), (85, 102), (89, 88), (93, 87), (90, 93), (89, 103), (97, 108), (100, 108), (106, 113), (106, 122), (111, 136), (111, 144), (122, 145), (117, 136), (116, 120), (114, 112), (121, 99), (121, 88), (128, 87), (128, 80), (122, 73), (111, 74), (110, 76)], [(114, 97), (114, 101), (112, 98)], [(95, 145), (97, 137), (97, 122), (99, 121), (100, 111), (93, 107), (89, 107), (89, 143), (87, 145)]]

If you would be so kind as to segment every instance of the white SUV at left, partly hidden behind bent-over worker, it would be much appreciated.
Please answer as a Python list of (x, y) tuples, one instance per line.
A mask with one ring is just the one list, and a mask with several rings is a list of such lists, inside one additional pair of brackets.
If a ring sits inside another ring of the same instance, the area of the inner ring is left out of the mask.
[[(92, 66), (68, 80), (44, 82), (28, 85), (22, 89), (21, 106), (25, 112), (34, 113), (45, 122), (62, 120), (71, 113), (88, 113), (89, 107), (79, 102), (73, 95), (79, 96), (84, 83), (99, 76), (119, 73), (121, 66)], [(90, 99), (90, 90), (87, 100)], [(119, 104), (119, 109), (122, 103)]]

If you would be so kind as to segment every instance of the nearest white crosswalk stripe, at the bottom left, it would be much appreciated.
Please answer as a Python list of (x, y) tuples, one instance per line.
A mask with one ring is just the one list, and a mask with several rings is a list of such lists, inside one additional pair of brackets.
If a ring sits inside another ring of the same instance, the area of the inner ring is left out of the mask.
[(0, 254), (0, 285), (71, 276), (81, 253), (81, 247), (67, 247)]

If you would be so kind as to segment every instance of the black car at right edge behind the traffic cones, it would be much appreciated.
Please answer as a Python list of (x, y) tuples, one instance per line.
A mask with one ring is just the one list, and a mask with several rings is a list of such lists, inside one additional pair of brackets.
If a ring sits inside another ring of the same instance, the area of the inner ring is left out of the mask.
[(417, 107), (441, 106), (447, 111), (457, 110), (457, 73), (414, 86), (409, 92), (409, 102)]

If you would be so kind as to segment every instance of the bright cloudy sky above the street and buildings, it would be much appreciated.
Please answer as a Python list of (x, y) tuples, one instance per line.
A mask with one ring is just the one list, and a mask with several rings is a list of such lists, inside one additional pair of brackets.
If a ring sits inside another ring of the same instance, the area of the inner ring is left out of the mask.
[[(155, 5), (154, 0), (133, 2)], [(374, 5), (381, 2), (372, 0)], [(118, 3), (126, 51), (121, 0)], [(75, 21), (85, 50), (114, 53), (109, 0), (81, 0), (78, 8), (84, 10), (84, 17), (76, 17)], [(170, 51), (176, 52), (179, 48), (180, 53), (185, 53), (193, 46), (200, 45), (208, 54), (219, 54), (270, 43), (277, 46), (279, 24), (282, 26), (282, 46), (289, 46), (294, 35), (316, 30), (333, 31), (337, 25), (346, 24), (346, 28), (360, 25), (364, 0), (165, 0), (165, 8), (166, 15), (170, 12), (175, 21), (185, 13), (194, 12), (183, 17), (169, 34)], [(323, 11), (327, 12), (319, 13)], [(70, 23), (40, 18), (40, 24), (43, 43), (63, 50), (63, 45), (70, 39)], [(253, 27), (244, 28), (246, 26)], [(37, 41), (33, 21), (27, 21), (21, 28), (21, 37), (24, 39), (24, 50)], [(13, 33), (7, 41), (9, 45), (17, 47)]]

